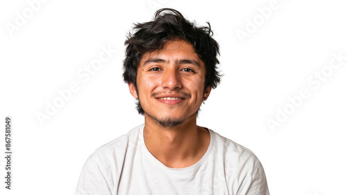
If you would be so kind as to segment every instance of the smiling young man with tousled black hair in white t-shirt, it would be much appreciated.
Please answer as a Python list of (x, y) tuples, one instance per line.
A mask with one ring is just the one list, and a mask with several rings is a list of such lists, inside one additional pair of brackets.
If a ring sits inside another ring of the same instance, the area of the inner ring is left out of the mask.
[(88, 158), (77, 194), (269, 194), (248, 149), (196, 125), (220, 82), (208, 27), (162, 9), (126, 40), (124, 81), (145, 123)]

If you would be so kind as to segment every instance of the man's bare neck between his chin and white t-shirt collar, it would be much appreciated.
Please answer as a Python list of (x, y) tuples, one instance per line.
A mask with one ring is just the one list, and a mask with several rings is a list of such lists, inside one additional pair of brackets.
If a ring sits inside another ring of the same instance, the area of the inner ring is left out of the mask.
[(196, 114), (176, 127), (162, 127), (145, 114), (144, 142), (161, 163), (182, 168), (202, 158), (210, 145), (210, 133), (196, 125)]

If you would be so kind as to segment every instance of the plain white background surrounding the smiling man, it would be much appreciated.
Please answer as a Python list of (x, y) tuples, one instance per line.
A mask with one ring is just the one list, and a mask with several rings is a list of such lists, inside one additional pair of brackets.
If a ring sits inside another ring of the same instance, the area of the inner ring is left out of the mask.
[[(347, 194), (347, 60), (330, 73), (328, 67), (332, 53), (347, 56), (345, 1), (278, 0), (267, 18), (260, 10), (269, 0), (226, 2), (51, 0), (30, 15), (27, 1), (1, 1), (0, 150), (4, 156), (10, 115), (13, 171), (10, 191), (1, 157), (0, 194), (74, 194), (94, 149), (144, 122), (121, 78), (124, 40), (133, 22), (151, 20), (162, 7), (198, 25), (210, 21), (221, 46), (222, 82), (198, 124), (251, 149), (271, 194)], [(16, 12), (27, 17), (19, 26)], [(240, 39), (237, 29), (248, 37)], [(77, 73), (99, 58), (102, 46), (118, 52), (85, 82)], [(322, 68), (325, 82), (309, 84)], [(47, 101), (71, 82), (79, 90), (41, 125), (36, 113), (46, 113)], [(310, 97), (271, 131), (266, 120), (290, 108), (288, 98), (302, 89)]]

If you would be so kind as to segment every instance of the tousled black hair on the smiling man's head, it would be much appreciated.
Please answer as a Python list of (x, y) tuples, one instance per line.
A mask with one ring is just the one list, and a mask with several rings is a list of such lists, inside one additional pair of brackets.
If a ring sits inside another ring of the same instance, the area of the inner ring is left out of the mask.
[[(198, 57), (205, 63), (204, 91), (208, 86), (215, 89), (221, 81), (221, 75), (217, 71), (219, 44), (212, 38), (210, 23), (207, 24), (208, 26), (198, 27), (195, 22), (188, 21), (180, 12), (171, 8), (162, 8), (155, 12), (152, 21), (135, 24), (133, 28), (135, 33), (129, 32), (124, 43), (126, 45), (126, 58), (123, 64), (124, 82), (133, 83), (137, 91), (137, 67), (142, 56), (162, 49), (166, 41), (181, 39), (192, 44)], [(144, 114), (139, 101), (137, 101), (137, 111)]]

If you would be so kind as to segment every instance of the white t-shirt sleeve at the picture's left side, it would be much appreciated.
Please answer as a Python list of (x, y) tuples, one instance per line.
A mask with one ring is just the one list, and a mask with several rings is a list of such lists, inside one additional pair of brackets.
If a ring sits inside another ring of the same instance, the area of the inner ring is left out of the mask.
[(105, 176), (93, 156), (83, 166), (76, 189), (77, 195), (112, 195)]

